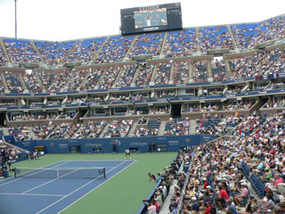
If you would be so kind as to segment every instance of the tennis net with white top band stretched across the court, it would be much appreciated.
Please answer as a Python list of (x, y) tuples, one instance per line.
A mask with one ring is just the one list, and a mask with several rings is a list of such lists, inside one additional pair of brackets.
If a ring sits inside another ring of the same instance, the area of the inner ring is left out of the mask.
[(15, 168), (14, 177), (30, 178), (106, 178), (105, 168)]

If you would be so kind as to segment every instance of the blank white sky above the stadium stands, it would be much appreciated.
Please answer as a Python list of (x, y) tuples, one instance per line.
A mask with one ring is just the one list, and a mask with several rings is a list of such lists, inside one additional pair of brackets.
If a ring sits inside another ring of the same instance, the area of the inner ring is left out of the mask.
[[(264, 21), (285, 0), (17, 0), (18, 38), (64, 41), (118, 35), (120, 9), (180, 2), (183, 28)], [(14, 0), (0, 0), (0, 37), (15, 37)]]

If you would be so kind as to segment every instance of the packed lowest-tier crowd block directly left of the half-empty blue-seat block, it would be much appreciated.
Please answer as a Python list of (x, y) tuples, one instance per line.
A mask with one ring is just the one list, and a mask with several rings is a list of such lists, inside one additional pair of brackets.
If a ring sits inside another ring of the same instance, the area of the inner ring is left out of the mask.
[(103, 138), (127, 136), (133, 125), (133, 119), (113, 120), (103, 134)]

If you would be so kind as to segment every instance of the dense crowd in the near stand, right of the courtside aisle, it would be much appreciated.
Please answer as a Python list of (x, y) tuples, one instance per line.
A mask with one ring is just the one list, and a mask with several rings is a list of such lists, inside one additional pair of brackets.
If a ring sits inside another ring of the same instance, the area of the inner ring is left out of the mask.
[(283, 213), (285, 195), (278, 188), (285, 177), (283, 128), (282, 114), (266, 120), (254, 112), (240, 121), (234, 136), (200, 144), (184, 184), (183, 213)]

